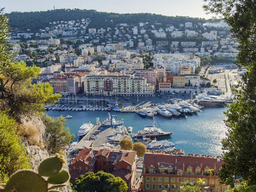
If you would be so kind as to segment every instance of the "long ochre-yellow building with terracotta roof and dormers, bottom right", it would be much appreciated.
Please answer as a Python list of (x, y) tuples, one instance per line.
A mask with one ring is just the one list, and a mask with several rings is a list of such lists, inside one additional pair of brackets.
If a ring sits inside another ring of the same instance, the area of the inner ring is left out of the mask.
[[(225, 192), (228, 189), (218, 180), (219, 169), (224, 163), (220, 156), (214, 158), (211, 155), (178, 154), (145, 153), (142, 173), (144, 192), (175, 192), (180, 189), (181, 182), (196, 184), (200, 179), (205, 182), (202, 191)], [(209, 169), (213, 169), (211, 176)]]

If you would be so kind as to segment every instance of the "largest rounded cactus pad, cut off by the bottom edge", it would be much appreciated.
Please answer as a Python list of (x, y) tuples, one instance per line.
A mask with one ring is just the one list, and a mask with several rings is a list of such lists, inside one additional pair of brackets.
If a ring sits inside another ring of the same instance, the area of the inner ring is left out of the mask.
[(48, 183), (31, 170), (16, 172), (6, 183), (5, 192), (48, 192)]

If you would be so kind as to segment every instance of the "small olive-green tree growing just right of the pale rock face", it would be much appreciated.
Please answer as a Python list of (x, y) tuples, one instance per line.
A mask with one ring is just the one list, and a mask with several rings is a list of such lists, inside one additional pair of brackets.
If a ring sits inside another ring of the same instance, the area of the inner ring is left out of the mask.
[(67, 120), (63, 116), (52, 118), (44, 114), (42, 121), (46, 127), (48, 149), (52, 154), (60, 152), (62, 147), (70, 145), (76, 138), (75, 134), (70, 134), (70, 129), (66, 127)]

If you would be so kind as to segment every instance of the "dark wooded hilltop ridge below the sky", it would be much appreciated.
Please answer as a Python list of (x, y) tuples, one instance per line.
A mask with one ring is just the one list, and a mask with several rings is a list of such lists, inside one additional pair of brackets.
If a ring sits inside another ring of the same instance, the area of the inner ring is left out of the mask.
[[(81, 20), (90, 18), (90, 27), (94, 28), (114, 28), (117, 24), (127, 23), (128, 25), (137, 24), (139, 22), (148, 23), (161, 23), (172, 24), (178, 26), (179, 23), (192, 22), (192, 23), (206, 23), (206, 19), (182, 17), (182, 16), (164, 16), (151, 13), (136, 13), (136, 14), (118, 14), (97, 12), (96, 10), (86, 9), (56, 9), (48, 10), (44, 12), (12, 12), (6, 14), (9, 17), (9, 25), (19, 29), (31, 29), (32, 31), (44, 29), (49, 27), (49, 22), (53, 21), (69, 21), (69, 20)], [(112, 20), (112, 21), (111, 21)]]

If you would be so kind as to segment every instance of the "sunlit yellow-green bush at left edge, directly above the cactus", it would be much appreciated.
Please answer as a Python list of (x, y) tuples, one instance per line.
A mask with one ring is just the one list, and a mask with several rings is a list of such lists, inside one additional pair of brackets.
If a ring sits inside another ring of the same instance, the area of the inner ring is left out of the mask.
[(0, 183), (6, 183), (10, 175), (19, 169), (29, 169), (29, 157), (18, 135), (18, 124), (6, 112), (0, 111)]

